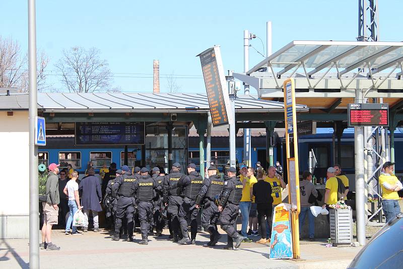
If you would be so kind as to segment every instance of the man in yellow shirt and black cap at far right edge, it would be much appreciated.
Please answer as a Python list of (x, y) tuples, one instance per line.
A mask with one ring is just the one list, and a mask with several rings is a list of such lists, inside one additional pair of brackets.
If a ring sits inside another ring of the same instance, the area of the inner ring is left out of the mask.
[(401, 182), (393, 174), (394, 163), (385, 162), (384, 172), (379, 176), (379, 185), (382, 189), (382, 209), (385, 214), (386, 223), (400, 213), (397, 191), (403, 188)]

